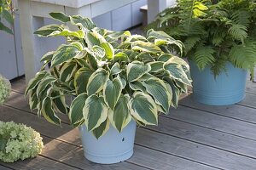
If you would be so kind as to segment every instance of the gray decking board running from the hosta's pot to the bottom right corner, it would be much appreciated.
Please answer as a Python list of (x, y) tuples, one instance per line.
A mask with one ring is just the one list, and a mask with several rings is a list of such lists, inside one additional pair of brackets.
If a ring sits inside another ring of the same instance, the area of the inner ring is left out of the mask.
[(184, 139), (177, 139), (162, 133), (145, 129), (137, 131), (137, 142), (156, 150), (182, 156), (192, 161), (205, 163), (212, 167), (232, 170), (252, 170), (256, 159), (239, 156), (228, 151), (214, 149), (203, 144), (195, 144)]

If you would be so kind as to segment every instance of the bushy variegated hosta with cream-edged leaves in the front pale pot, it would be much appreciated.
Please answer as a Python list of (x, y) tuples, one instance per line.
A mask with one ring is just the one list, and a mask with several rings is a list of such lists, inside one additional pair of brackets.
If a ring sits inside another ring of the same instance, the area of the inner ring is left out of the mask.
[[(158, 113), (177, 107), (178, 96), (187, 92), (189, 65), (172, 54), (181, 54), (183, 44), (163, 31), (150, 30), (143, 37), (96, 27), (79, 15), (50, 15), (78, 29), (63, 24), (35, 31), (68, 42), (43, 56), (42, 70), (26, 88), (38, 116), (60, 125), (58, 114), (67, 114), (73, 127), (85, 123), (99, 138), (110, 124), (121, 132), (131, 119), (157, 125)], [(73, 96), (71, 105), (67, 96)]]

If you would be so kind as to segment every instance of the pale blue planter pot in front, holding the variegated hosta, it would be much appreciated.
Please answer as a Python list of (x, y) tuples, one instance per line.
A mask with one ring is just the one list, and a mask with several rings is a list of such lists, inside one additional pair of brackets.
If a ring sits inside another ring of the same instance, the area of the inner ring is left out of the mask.
[(129, 159), (133, 154), (136, 122), (131, 121), (121, 133), (110, 125), (109, 130), (99, 139), (87, 131), (83, 125), (79, 127), (84, 156), (96, 163), (111, 164)]

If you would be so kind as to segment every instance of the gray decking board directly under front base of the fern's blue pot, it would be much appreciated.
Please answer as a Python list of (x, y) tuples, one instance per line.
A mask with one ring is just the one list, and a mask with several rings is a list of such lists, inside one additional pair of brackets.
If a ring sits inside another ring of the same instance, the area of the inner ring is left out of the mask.
[(224, 106), (214, 106), (214, 105), (202, 105), (195, 100), (193, 100), (192, 94), (188, 97), (181, 99), (180, 105), (188, 106), (201, 111), (209, 111), (213, 114), (218, 114), (221, 116), (227, 116), (230, 118), (235, 118), (244, 122), (252, 122), (256, 124), (256, 110), (253, 108), (245, 107), (242, 105), (224, 105)]

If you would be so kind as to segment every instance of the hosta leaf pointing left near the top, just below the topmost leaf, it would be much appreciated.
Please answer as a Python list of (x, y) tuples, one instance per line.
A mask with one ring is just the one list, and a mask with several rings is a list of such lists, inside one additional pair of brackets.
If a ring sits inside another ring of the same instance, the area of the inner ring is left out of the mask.
[(34, 32), (34, 34), (37, 34), (39, 37), (47, 37), (50, 34), (53, 34), (55, 32), (61, 32), (63, 31), (63, 29), (64, 29), (63, 26), (52, 24), (52, 25), (43, 26), (39, 28), (37, 31)]

